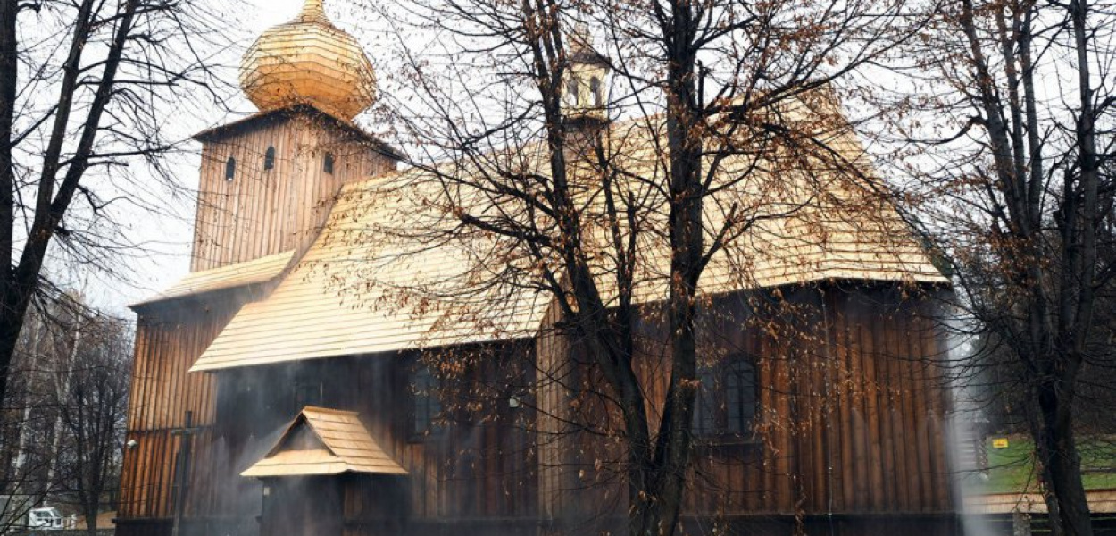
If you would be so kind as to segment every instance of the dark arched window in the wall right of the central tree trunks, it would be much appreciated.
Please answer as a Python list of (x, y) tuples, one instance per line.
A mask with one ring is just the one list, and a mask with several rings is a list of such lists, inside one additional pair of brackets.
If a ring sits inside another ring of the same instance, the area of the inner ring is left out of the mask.
[(698, 371), (701, 384), (694, 406), (693, 432), (699, 438), (747, 440), (759, 401), (756, 365), (730, 356), (718, 366)]

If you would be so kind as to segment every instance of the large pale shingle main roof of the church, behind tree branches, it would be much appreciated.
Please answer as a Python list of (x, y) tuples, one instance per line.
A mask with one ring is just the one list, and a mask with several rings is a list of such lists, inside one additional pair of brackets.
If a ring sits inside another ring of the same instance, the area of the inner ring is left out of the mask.
[[(624, 188), (645, 203), (638, 224), (650, 230), (641, 231), (637, 303), (666, 298), (670, 267), (668, 238), (656, 231), (667, 218), (660, 186), (668, 163), (655, 143), (661, 132), (648, 124), (615, 125), (608, 138), (619, 175), (635, 178)], [(863, 154), (850, 134), (833, 144), (854, 160)], [(509, 157), (523, 162), (525, 173), (548, 169), (539, 145)], [(705, 203), (705, 226), (711, 233), (720, 229), (731, 210), (748, 211), (751, 223), (711, 258), (701, 293), (834, 279), (947, 284), (887, 201), (855, 188), (828, 164), (768, 164), (744, 156), (721, 163), (723, 189)], [(585, 165), (574, 173), (595, 179)], [(550, 299), (532, 285), (535, 260), (516, 257), (507, 242), (484, 233), (432, 239), (431, 231), (436, 237), (456, 224), (439, 207), (443, 185), (416, 169), (347, 185), (298, 266), (268, 298), (246, 305), (191, 370), (533, 336)], [(462, 195), (458, 202), (473, 203), (474, 212), (502, 209), (483, 197)], [(587, 221), (602, 210), (602, 198), (587, 195), (583, 202)], [(600, 266), (594, 268), (605, 270), (608, 237), (600, 226), (586, 228), (587, 248), (602, 245), (603, 253), (593, 256)], [(425, 237), (408, 240), (412, 231)], [(487, 261), (491, 258), (500, 261)], [(465, 287), (472, 288), (462, 291)], [(614, 299), (615, 291), (603, 291)]]

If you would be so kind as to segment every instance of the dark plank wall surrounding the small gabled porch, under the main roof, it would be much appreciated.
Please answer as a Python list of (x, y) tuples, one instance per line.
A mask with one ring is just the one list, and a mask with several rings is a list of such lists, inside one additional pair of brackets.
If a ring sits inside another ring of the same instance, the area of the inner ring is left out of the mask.
[[(321, 385), (315, 405), (359, 412), (376, 442), (407, 469), (392, 491), (405, 496), (394, 499), (401, 506), (392, 514), (405, 509), (407, 523), (537, 518), (535, 450), (522, 419), (517, 421), (517, 412), (528, 410), (504, 401), (484, 422), (463, 419), (429, 437), (412, 437), (413, 361), (413, 355), (374, 355), (218, 373), (220, 401), (210, 440), (223, 453), (198, 469), (205, 475), (195, 475), (190, 515), (230, 521), (260, 515), (261, 485), (239, 473), (266, 453), (276, 432), (301, 409), (296, 401), (301, 384)], [(387, 488), (354, 482), (346, 485), (347, 534), (376, 526), (387, 515), (374, 506)]]

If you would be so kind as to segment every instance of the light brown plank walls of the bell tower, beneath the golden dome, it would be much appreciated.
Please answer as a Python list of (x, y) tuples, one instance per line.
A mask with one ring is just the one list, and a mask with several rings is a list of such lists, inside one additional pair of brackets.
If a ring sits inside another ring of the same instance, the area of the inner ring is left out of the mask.
[[(263, 169), (269, 146), (275, 166)], [(334, 172), (323, 171), (327, 153)], [(225, 180), (225, 162), (237, 161)], [(202, 147), (191, 270), (280, 251), (301, 251), (325, 223), (341, 185), (383, 173), (395, 162), (367, 141), (305, 114), (280, 115)]]

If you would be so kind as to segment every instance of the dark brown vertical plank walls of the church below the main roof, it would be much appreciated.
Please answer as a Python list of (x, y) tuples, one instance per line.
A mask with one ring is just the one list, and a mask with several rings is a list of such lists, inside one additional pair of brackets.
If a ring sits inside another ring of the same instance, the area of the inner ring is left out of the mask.
[[(918, 315), (927, 304), (901, 303), (897, 291), (884, 285), (827, 289), (824, 298), (811, 293), (800, 291), (799, 299), (824, 303), (825, 308), (795, 320), (805, 336), (795, 337), (793, 344), (748, 325), (742, 299), (725, 298), (716, 305), (724, 314), (712, 329), (715, 345), (759, 357), (759, 433), (756, 441), (696, 448), (685, 514), (764, 523), (825, 514), (863, 516), (847, 518), (852, 520), (843, 521), (845, 532), (837, 534), (870, 534), (875, 529), (864, 525), (866, 519), (902, 515), (913, 517), (892, 517), (888, 526), (937, 534), (941, 524), (926, 525), (925, 530), (918, 526), (918, 516), (952, 511), (943, 430), (947, 399), (934, 370), (926, 366), (943, 348), (932, 320)], [(348, 536), (371, 536), (400, 524), (423, 534), (454, 532), (451, 527), (527, 534), (543, 520), (560, 520), (584, 533), (595, 520), (623, 517), (624, 488), (615, 473), (619, 466), (612, 462), (619, 451), (602, 448), (599, 438), (546, 433), (566, 432), (566, 420), (607, 418), (599, 405), (573, 409), (577, 396), (564, 385), (589, 375), (570, 365), (576, 345), (557, 333), (543, 332), (533, 341), (540, 375), (533, 400), (551, 415), (539, 418), (542, 433), (510, 425), (516, 411), (523, 410), (503, 405), (491, 421), (462, 422), (413, 438), (407, 430), (414, 355), (185, 374), (230, 315), (211, 308), (200, 316), (183, 310), (157, 324), (141, 320), (128, 436), (140, 446), (125, 460), (121, 517), (171, 515), (177, 440), (167, 428), (181, 425), (189, 408), (205, 425), (195, 440), (186, 508), (191, 523), (209, 524), (209, 533), (220, 525), (221, 534), (257, 534), (262, 488), (239, 472), (266, 454), (297, 413), (299, 383), (320, 384), (321, 405), (358, 411), (375, 440), (410, 471), (392, 482), (398, 486), (391, 498), (400, 505), (394, 514), (406, 511), (405, 521), (374, 507), (376, 500), (386, 500), (381, 494), (389, 487), (345, 484)], [(656, 411), (668, 367), (663, 347), (654, 344), (653, 323), (648, 326), (641, 374), (648, 385), (650, 408)], [(711, 341), (708, 335), (703, 339)], [(902, 519), (910, 523), (903, 525)]]

